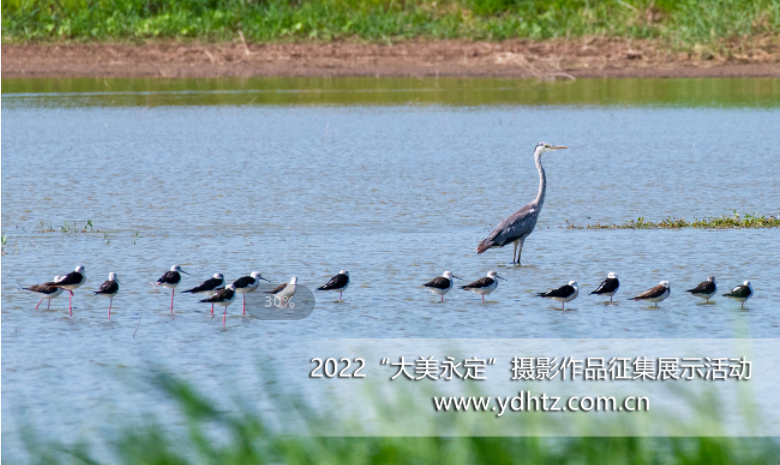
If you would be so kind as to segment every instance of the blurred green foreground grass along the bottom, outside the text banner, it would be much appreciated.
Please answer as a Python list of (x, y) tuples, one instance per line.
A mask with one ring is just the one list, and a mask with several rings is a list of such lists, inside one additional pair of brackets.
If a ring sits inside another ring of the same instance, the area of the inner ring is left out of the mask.
[[(225, 412), (188, 384), (171, 378), (156, 383), (176, 403), (186, 433), (168, 432), (153, 421), (129, 427), (110, 439), (110, 460), (95, 444), (46, 443), (25, 434), (31, 463), (73, 464), (768, 464), (780, 457), (774, 438), (712, 437), (299, 437), (276, 435), (258, 414)], [(309, 424), (327, 422), (303, 406)], [(295, 413), (295, 414), (293, 414)], [(215, 440), (221, 431), (223, 440)]]

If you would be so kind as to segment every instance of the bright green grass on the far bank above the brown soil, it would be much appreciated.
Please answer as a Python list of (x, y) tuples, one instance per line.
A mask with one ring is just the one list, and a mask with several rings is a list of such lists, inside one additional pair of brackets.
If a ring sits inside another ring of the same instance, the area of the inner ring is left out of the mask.
[[(778, 37), (780, 0), (2, 0), (4, 42)], [(776, 42), (776, 40), (775, 40)]]

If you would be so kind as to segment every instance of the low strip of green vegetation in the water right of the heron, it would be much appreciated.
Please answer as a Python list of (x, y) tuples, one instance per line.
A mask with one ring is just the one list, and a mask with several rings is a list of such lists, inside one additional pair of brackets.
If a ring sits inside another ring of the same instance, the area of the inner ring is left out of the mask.
[(778, 216), (758, 216), (748, 215), (740, 217), (735, 211), (734, 216), (727, 217), (721, 215), (718, 218), (704, 218), (702, 220), (688, 221), (684, 218), (668, 217), (657, 223), (645, 221), (644, 217), (637, 218), (636, 221), (629, 220), (621, 224), (588, 224), (585, 226), (575, 225), (566, 222), (566, 229), (681, 229), (681, 228), (699, 228), (699, 229), (733, 229), (733, 228), (777, 228), (780, 227), (780, 215)]

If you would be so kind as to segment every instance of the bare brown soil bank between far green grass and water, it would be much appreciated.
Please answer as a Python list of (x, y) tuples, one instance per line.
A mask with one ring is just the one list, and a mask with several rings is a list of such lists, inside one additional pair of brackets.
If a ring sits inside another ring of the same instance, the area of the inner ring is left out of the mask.
[(652, 41), (592, 38), (395, 45), (6, 44), (2, 77), (780, 77), (780, 51), (774, 48), (725, 59), (707, 51), (670, 52)]

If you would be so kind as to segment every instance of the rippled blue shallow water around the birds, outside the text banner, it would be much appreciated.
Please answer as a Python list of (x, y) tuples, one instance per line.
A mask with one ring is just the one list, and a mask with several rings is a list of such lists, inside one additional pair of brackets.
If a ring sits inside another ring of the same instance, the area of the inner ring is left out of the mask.
[[(780, 334), (778, 229), (565, 228), (780, 213), (780, 80), (4, 80), (2, 98), (4, 458), (21, 454), (20, 418), (71, 439), (99, 428), (96, 412), (155, 408), (117, 372), (252, 388), (256, 364), (300, 339)], [(542, 140), (571, 149), (543, 159), (523, 266), (511, 247), (478, 256), (535, 197)], [(94, 231), (59, 232), (88, 220)], [(192, 274), (182, 287), (253, 270), (313, 289), (347, 269), (352, 285), (301, 321), (236, 303), (223, 329), (188, 295), (171, 317), (149, 282), (173, 264)], [(73, 318), (67, 295), (34, 310), (18, 290), (76, 265), (89, 281)], [(507, 281), (484, 305), (458, 290), (439, 303), (421, 284), (444, 270)], [(89, 291), (112, 271), (109, 322)], [(621, 289), (607, 305), (587, 293), (610, 271)], [(683, 292), (708, 275), (756, 295), (742, 309)], [(534, 297), (571, 279), (565, 313)], [(658, 309), (626, 301), (662, 279)]]

